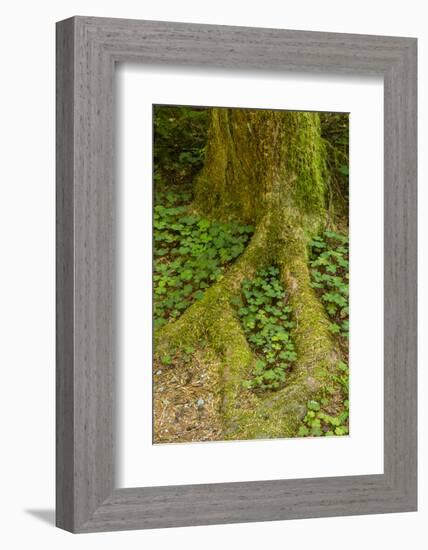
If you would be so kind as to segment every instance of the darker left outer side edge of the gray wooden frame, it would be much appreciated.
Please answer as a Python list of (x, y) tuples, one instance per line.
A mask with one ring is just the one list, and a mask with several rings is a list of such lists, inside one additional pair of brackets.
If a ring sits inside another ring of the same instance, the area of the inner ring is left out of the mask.
[(74, 23), (56, 36), (56, 520), (74, 526)]

